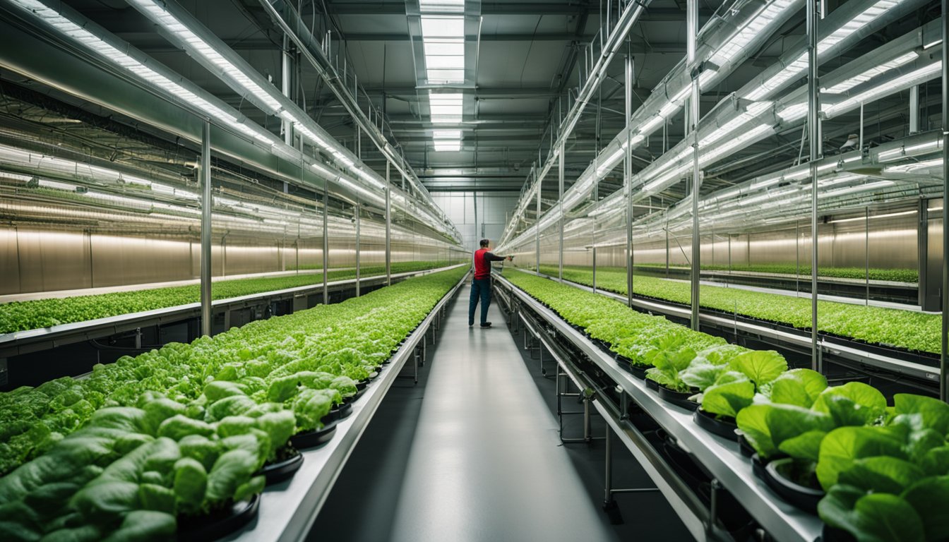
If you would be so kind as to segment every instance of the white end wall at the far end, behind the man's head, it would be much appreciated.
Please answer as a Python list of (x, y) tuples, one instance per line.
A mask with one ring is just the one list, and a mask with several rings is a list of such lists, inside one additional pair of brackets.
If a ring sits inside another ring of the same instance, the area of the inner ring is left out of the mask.
[[(474, 222), (474, 197), (477, 196), (477, 224)], [(493, 243), (504, 232), (507, 217), (517, 205), (511, 192), (436, 192), (432, 198), (455, 222), (466, 249), (477, 248), (478, 239)]]

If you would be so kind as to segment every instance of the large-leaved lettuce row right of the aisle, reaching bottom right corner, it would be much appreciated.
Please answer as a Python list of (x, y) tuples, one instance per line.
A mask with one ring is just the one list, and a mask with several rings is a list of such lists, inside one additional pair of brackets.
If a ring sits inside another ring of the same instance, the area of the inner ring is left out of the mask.
[(508, 278), (621, 363), (735, 423), (760, 460), (782, 459), (782, 477), (826, 492), (817, 511), (829, 526), (862, 542), (949, 539), (946, 403), (897, 394), (890, 405), (865, 383), (830, 386), (810, 369), (789, 369), (777, 352), (729, 345), (533, 274)]

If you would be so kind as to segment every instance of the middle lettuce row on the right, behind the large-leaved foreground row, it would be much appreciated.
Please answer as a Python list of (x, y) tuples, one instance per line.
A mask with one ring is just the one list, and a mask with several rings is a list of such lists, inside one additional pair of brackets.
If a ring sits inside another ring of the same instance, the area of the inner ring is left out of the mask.
[[(557, 276), (558, 269), (541, 266), (541, 272)], [(564, 268), (564, 278), (592, 286), (593, 271), (589, 268)], [(597, 269), (596, 284), (597, 288), (625, 295), (626, 271), (617, 268)], [(691, 303), (692, 299), (688, 283), (649, 276), (636, 275), (633, 291), (637, 295), (684, 305)], [(809, 297), (701, 285), (699, 300), (702, 308), (741, 314), (799, 329), (810, 328)], [(833, 301), (817, 302), (818, 329), (871, 345), (939, 354), (941, 326), (939, 314)]]

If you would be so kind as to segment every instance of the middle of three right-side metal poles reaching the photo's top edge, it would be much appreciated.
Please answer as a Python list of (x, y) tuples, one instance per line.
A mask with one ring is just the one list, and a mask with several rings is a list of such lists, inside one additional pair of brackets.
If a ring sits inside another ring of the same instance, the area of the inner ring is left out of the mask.
[(810, 368), (818, 370), (817, 351), (817, 9), (819, 4), (808, 0), (808, 139), (810, 143)]

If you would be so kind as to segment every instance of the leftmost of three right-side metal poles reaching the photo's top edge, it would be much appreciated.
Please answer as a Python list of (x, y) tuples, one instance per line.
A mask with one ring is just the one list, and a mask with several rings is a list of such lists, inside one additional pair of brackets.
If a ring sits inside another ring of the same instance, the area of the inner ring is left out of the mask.
[(686, 64), (692, 73), (692, 99), (689, 112), (692, 114), (692, 328), (698, 330), (698, 286), (701, 278), (701, 236), (698, 232), (698, 194), (701, 190), (702, 178), (698, 171), (698, 114), (699, 88), (698, 69), (696, 65), (696, 40), (698, 39), (698, 0), (688, 0), (686, 24), (688, 26), (688, 60)]

